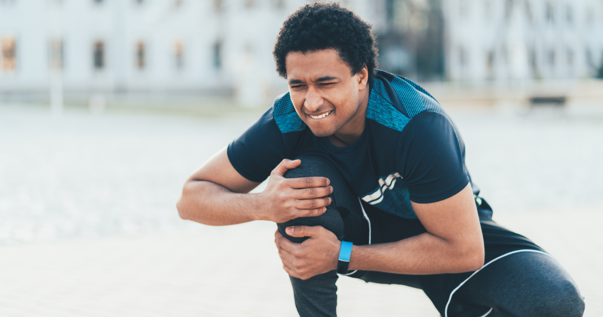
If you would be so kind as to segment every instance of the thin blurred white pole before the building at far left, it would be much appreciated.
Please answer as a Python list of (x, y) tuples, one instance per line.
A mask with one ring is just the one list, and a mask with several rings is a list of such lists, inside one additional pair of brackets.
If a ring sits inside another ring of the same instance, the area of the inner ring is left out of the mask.
[(48, 2), (49, 34), (49, 71), (50, 71), (50, 109), (52, 114), (63, 113), (63, 38), (61, 36), (61, 3)]

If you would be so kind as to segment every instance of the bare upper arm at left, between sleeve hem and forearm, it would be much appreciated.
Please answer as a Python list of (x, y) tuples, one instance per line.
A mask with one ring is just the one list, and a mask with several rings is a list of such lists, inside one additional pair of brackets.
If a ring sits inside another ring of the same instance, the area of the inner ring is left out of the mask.
[(230, 163), (226, 147), (207, 160), (187, 182), (209, 181), (235, 193), (248, 193), (260, 183), (244, 178)]

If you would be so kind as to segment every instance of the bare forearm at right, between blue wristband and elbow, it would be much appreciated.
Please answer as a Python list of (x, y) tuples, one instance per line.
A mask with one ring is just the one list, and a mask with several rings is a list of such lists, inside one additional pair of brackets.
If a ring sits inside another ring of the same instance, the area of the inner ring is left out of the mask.
[(453, 243), (424, 233), (398, 242), (353, 246), (349, 270), (443, 274), (475, 271), (483, 263), (483, 242)]

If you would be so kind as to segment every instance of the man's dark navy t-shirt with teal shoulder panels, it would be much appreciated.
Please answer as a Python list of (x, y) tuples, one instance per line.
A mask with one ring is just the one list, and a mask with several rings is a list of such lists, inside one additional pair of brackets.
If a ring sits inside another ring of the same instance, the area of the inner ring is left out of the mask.
[(312, 134), (287, 93), (228, 147), (233, 167), (254, 182), (304, 153), (329, 159), (358, 197), (407, 219), (417, 218), (411, 200), (444, 200), (470, 182), (463, 139), (440, 104), (411, 80), (384, 71), (371, 84), (364, 132), (350, 146)]

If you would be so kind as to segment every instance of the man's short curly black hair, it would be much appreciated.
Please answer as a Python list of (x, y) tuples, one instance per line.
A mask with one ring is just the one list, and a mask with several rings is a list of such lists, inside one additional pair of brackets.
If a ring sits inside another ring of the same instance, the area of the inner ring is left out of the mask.
[(352, 75), (367, 66), (371, 82), (377, 67), (376, 37), (371, 25), (338, 3), (314, 2), (292, 13), (283, 22), (274, 44), (274, 61), (280, 77), (287, 78), (289, 52), (313, 52), (332, 48), (350, 66)]

